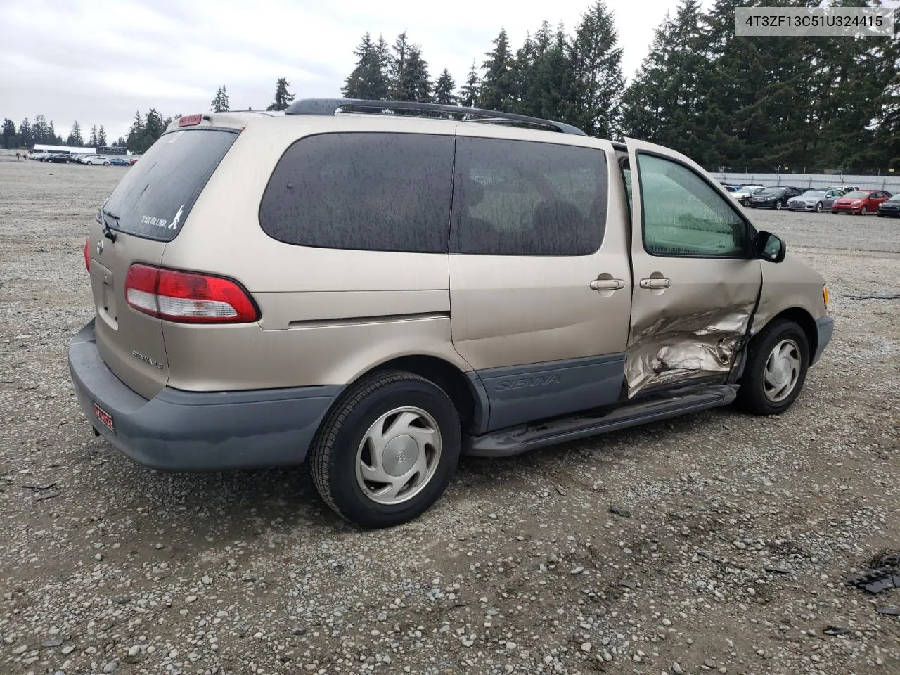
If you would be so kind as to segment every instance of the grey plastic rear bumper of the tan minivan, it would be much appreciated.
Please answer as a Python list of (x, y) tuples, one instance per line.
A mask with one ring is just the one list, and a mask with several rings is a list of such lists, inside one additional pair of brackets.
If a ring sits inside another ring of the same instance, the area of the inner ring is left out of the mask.
[[(183, 392), (166, 387), (145, 399), (103, 363), (94, 321), (69, 342), (78, 404), (94, 428), (135, 462), (165, 471), (207, 472), (302, 464), (343, 387), (248, 392)], [(112, 415), (108, 428), (94, 403)]]

